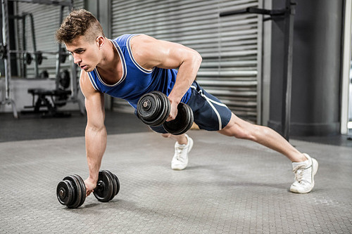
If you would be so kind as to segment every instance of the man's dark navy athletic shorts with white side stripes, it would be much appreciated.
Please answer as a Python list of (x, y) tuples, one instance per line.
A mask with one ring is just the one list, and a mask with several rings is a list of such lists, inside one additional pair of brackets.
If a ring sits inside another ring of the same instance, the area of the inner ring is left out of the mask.
[[(207, 93), (197, 82), (191, 85), (191, 97), (187, 105), (193, 110), (194, 122), (200, 129), (208, 131), (219, 131), (229, 122), (232, 112), (218, 98)], [(150, 126), (153, 131), (167, 134), (163, 125)]]

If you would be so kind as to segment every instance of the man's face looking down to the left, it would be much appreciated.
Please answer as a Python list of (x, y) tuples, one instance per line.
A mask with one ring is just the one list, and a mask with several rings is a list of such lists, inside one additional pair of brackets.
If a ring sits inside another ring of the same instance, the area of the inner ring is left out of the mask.
[(73, 56), (73, 63), (85, 72), (92, 72), (99, 63), (99, 45), (96, 42), (92, 43), (85, 37), (78, 37), (65, 46)]

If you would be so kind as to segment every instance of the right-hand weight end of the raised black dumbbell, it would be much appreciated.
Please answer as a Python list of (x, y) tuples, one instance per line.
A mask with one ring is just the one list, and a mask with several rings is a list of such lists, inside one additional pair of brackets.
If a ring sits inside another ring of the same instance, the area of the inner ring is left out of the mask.
[(193, 112), (189, 105), (180, 103), (177, 105), (177, 116), (170, 122), (165, 122), (163, 127), (172, 135), (180, 135), (187, 132), (194, 121)]

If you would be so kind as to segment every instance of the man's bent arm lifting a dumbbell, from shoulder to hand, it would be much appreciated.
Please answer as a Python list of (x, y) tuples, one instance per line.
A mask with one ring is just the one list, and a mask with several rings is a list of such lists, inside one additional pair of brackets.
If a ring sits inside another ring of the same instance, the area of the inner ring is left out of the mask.
[(178, 103), (196, 79), (201, 66), (201, 55), (181, 44), (157, 40), (146, 35), (133, 37), (131, 46), (134, 59), (146, 69), (178, 68), (175, 86), (168, 96), (171, 111), (167, 121), (175, 119)]

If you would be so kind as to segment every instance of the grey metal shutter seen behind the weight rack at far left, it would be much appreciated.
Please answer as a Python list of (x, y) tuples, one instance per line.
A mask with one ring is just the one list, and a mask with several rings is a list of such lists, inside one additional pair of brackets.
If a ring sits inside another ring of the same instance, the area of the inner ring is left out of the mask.
[[(74, 8), (82, 8), (83, 0), (74, 1)], [(55, 40), (55, 32), (60, 27), (60, 8), (61, 6), (50, 6), (46, 4), (28, 4), (23, 2), (18, 2), (15, 6), (17, 15), (22, 15), (22, 13), (32, 13), (34, 18), (34, 35), (37, 45), (37, 51), (58, 51), (58, 44)], [(65, 7), (63, 17), (68, 15), (68, 7)], [(22, 22), (16, 24), (17, 26), (17, 48), (23, 50), (23, 26)], [(32, 32), (30, 30), (30, 20), (26, 19), (25, 25), (26, 41), (27, 41), (27, 51), (32, 51)], [(49, 72), (49, 78), (55, 79), (55, 69), (56, 69), (56, 55), (43, 54), (47, 59), (43, 60), (42, 65), (38, 66), (39, 73), (43, 70)], [(18, 66), (20, 67), (20, 66)], [(61, 64), (61, 70), (70, 69), (70, 60), (67, 58), (65, 63)], [(26, 78), (34, 77), (34, 62), (31, 65), (27, 65), (27, 76)]]

